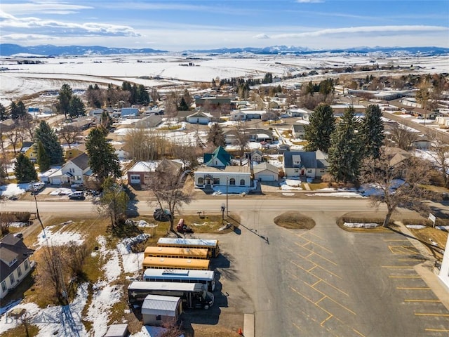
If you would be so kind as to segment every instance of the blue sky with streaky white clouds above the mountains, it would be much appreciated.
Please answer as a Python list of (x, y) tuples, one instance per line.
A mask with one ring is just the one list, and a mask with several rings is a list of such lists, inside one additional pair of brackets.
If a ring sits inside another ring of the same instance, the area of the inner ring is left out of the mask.
[(0, 42), (168, 51), (449, 47), (449, 0), (1, 0)]

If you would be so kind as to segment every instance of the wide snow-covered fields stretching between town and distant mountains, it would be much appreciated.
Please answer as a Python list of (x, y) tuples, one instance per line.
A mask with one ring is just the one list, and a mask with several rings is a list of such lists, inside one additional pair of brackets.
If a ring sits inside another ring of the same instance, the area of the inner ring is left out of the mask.
[[(187, 59), (196, 58), (195, 60)], [(382, 65), (414, 66), (413, 72), (449, 72), (449, 56), (387, 58), (381, 55), (251, 55), (225, 54), (181, 55), (181, 54), (142, 54), (42, 58), (42, 64), (18, 65), (12, 58), (1, 58), (0, 98), (2, 104), (9, 104), (23, 95), (41, 91), (59, 90), (62, 84), (72, 88), (85, 89), (88, 84), (106, 86), (109, 83), (121, 85), (123, 81), (133, 81), (145, 86), (173, 86), (211, 79), (230, 79), (231, 77), (262, 78), (267, 72), (273, 76), (302, 74), (317, 70), (315, 76), (331, 77), (321, 74), (320, 68), (373, 65), (372, 60)], [(194, 62), (194, 66), (182, 66)], [(392, 74), (389, 71), (389, 74)], [(157, 79), (154, 79), (156, 77)], [(289, 79), (286, 84), (309, 81)]]

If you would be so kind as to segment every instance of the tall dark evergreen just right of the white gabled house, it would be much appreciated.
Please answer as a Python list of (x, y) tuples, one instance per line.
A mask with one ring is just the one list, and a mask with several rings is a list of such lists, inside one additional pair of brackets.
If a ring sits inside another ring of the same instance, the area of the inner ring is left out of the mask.
[(86, 141), (89, 165), (100, 183), (109, 176), (121, 176), (119, 158), (114, 154), (114, 147), (107, 143), (106, 134), (104, 128), (93, 128)]

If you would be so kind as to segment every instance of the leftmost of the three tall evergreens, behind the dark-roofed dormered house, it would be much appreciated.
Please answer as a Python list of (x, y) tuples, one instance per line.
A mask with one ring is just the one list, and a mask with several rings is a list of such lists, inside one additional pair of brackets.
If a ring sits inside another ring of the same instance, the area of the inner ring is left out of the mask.
[(330, 135), (335, 131), (335, 117), (332, 107), (321, 104), (310, 114), (309, 125), (304, 126), (307, 140), (306, 151), (321, 150), (328, 153)]

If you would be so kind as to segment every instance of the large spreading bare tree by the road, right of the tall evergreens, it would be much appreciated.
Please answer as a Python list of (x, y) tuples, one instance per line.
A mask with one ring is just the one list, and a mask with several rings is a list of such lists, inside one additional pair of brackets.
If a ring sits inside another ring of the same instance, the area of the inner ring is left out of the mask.
[(370, 194), (371, 205), (387, 205), (384, 227), (389, 226), (391, 215), (398, 207), (426, 211), (428, 206), (423, 200), (431, 196), (431, 192), (422, 187), (429, 183), (429, 162), (410, 156), (396, 163), (391, 161), (392, 157), (392, 154), (382, 151), (378, 159), (365, 159), (361, 167), (361, 183), (375, 185), (379, 190)]

